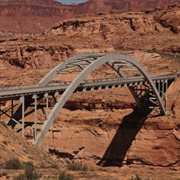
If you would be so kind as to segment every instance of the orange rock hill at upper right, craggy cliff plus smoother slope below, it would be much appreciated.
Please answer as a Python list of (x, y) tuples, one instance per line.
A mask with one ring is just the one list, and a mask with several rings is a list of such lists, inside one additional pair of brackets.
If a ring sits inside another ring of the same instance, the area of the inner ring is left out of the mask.
[(162, 10), (104, 13), (60, 22), (46, 34), (75, 40), (90, 37), (91, 41), (102, 41), (115, 48), (179, 53), (179, 12), (180, 5)]

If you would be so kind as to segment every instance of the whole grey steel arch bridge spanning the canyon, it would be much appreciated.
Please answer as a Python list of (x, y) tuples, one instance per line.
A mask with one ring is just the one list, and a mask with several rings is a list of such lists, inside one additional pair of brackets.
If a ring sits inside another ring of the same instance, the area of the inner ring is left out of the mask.
[[(118, 79), (84, 81), (85, 78), (97, 67), (107, 64), (119, 76)], [(132, 76), (130, 72), (137, 71), (138, 76)], [(61, 73), (76, 72), (77, 76), (66, 85), (58, 88), (51, 87), (50, 82)], [(134, 58), (123, 54), (97, 55), (85, 54), (70, 58), (52, 69), (42, 80), (35, 86), (26, 89), (14, 89), (6, 93), (0, 93), (0, 100), (12, 100), (12, 116), (8, 125), (14, 127), (20, 124), (24, 133), (25, 111), (34, 103), (34, 143), (41, 146), (44, 137), (54, 123), (56, 116), (59, 114), (67, 100), (74, 92), (90, 91), (105, 88), (118, 88), (127, 86), (132, 93), (139, 110), (150, 111), (157, 110), (161, 115), (166, 114), (166, 90), (177, 77), (177, 74), (167, 76), (150, 76), (142, 65)], [(8, 94), (9, 93), (9, 94)], [(53, 95), (56, 99), (51, 112), (48, 113), (48, 97)], [(61, 96), (59, 96), (61, 95)], [(21, 105), (13, 112), (13, 100), (20, 98)], [(37, 101), (46, 99), (45, 121), (42, 130), (37, 133)], [(2, 110), (1, 110), (2, 111)], [(6, 112), (3, 112), (7, 115)], [(22, 120), (22, 123), (19, 121)]]

